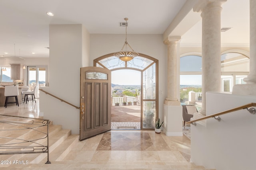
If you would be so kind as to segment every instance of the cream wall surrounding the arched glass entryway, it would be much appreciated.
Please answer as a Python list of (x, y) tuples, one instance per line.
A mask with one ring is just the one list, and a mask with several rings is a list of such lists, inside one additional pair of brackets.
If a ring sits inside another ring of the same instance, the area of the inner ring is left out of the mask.
[[(124, 41), (124, 34), (90, 34), (90, 65), (93, 66), (93, 60), (98, 57), (120, 51)], [(167, 47), (163, 43), (162, 35), (128, 34), (127, 41), (134, 51), (159, 61), (159, 118), (162, 119), (167, 93)], [(163, 95), (160, 95), (160, 90), (163, 91)]]

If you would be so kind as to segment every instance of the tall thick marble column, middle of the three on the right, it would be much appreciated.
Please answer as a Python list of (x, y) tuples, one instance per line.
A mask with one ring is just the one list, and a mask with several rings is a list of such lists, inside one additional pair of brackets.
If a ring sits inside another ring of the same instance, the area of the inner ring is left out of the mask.
[[(223, 0), (226, 1), (226, 0)], [(194, 7), (202, 17), (202, 109), (206, 115), (206, 92), (220, 92), (220, 14), (222, 0), (203, 1)]]

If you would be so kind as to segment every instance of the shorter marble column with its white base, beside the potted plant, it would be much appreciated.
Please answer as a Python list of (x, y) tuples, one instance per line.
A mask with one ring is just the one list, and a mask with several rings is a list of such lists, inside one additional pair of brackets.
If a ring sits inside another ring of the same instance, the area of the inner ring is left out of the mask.
[(164, 133), (167, 136), (182, 136), (182, 106), (177, 98), (177, 42), (180, 36), (168, 37), (164, 44), (167, 56), (167, 98), (164, 101)]

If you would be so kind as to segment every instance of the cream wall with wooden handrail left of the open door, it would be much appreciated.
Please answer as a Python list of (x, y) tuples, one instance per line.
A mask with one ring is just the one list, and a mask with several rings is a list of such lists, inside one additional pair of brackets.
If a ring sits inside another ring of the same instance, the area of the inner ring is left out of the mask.
[[(80, 68), (83, 61), (89, 61), (83, 58), (89, 54), (83, 43), (89, 37), (81, 24), (50, 25), (50, 86), (42, 89), (77, 107), (80, 106)], [(40, 93), (40, 114), (63, 129), (71, 129), (73, 134), (79, 134), (79, 113), (79, 109)]]

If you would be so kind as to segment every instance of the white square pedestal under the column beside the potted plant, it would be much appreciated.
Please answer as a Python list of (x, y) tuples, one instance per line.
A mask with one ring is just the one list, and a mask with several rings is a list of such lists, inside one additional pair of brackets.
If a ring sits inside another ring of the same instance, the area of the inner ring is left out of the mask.
[(164, 128), (166, 136), (182, 136), (182, 106), (164, 104)]

